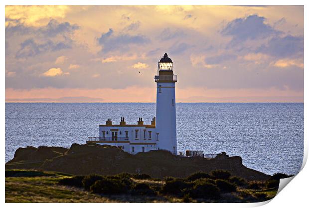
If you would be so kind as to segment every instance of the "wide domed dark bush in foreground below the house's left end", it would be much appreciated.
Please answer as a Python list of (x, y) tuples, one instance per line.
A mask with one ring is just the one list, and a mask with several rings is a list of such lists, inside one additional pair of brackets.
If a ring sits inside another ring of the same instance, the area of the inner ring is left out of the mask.
[(128, 189), (117, 179), (103, 178), (91, 185), (90, 191), (96, 194), (119, 195), (126, 193)]

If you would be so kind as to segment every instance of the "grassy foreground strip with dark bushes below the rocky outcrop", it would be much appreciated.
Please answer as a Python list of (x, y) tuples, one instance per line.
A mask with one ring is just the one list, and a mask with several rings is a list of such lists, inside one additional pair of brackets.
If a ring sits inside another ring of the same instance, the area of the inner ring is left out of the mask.
[(262, 202), (275, 197), (280, 178), (247, 181), (223, 170), (180, 179), (147, 174), (71, 176), (57, 172), (5, 171), (5, 202)]

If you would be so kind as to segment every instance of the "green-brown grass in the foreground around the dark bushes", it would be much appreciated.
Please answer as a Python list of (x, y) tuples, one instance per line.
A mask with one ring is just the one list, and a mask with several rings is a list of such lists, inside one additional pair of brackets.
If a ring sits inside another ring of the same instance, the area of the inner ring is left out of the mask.
[[(278, 187), (267, 189), (265, 185), (266, 182), (259, 182), (261, 185), (261, 189), (249, 189), (246, 186), (237, 186), (237, 191), (235, 192), (222, 192), (220, 194), (220, 199), (199, 199), (194, 197), (194, 195), (190, 195), (190, 187), (193, 187), (194, 184), (201, 183), (201, 180), (191, 182), (187, 179), (177, 179), (180, 182), (183, 181), (183, 183), (191, 183), (192, 186), (184, 188), (181, 191), (183, 193), (180, 195), (171, 195), (161, 192), (162, 187), (164, 187), (166, 183), (164, 180), (155, 180), (152, 178), (136, 179), (134, 176), (129, 176), (129, 179), (132, 180), (133, 183), (132, 189), (134, 189), (134, 187), (137, 187), (137, 185), (139, 184), (144, 184), (144, 187), (146, 187), (146, 184), (155, 194), (145, 196), (133, 193), (130, 194), (130, 191), (128, 191), (126, 194), (121, 195), (103, 195), (94, 194), (91, 191), (86, 191), (84, 188), (60, 185), (59, 181), (61, 181), (62, 179), (72, 178), (74, 176), (59, 172), (13, 170), (10, 172), (5, 171), (5, 176), (14, 176), (5, 177), (6, 203), (262, 202), (275, 197), (278, 190)], [(245, 183), (248, 184), (248, 182)], [(199, 195), (199, 197), (200, 196), (203, 195)]]

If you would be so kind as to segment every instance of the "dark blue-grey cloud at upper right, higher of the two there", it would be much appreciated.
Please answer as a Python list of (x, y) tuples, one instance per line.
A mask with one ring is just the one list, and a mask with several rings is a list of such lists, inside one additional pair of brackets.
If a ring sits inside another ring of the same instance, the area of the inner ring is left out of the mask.
[(266, 18), (258, 15), (250, 15), (230, 21), (222, 30), (221, 34), (231, 35), (233, 42), (266, 38), (270, 35), (279, 34), (280, 31), (273, 29), (265, 23)]

